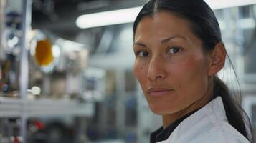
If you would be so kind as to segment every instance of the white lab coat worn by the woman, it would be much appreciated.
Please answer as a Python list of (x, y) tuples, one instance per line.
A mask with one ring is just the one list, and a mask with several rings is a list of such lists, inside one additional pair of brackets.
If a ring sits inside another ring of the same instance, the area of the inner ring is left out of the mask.
[(158, 143), (249, 143), (227, 121), (221, 97), (184, 119), (170, 137)]

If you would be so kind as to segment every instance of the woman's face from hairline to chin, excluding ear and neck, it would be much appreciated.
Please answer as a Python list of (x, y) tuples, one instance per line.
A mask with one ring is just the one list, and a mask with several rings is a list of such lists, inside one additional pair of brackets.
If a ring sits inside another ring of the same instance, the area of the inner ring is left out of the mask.
[(134, 73), (155, 114), (174, 114), (199, 102), (209, 87), (209, 55), (189, 22), (161, 11), (136, 29)]

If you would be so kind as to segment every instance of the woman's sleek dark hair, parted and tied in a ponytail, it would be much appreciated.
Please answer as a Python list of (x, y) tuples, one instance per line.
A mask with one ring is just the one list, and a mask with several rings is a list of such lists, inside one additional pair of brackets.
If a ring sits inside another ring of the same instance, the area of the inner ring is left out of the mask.
[[(187, 19), (191, 31), (202, 40), (204, 51), (212, 51), (216, 44), (222, 42), (217, 18), (212, 9), (203, 0), (150, 0), (143, 6), (133, 24), (133, 39), (138, 23), (144, 16), (153, 16), (158, 11), (171, 11)], [(229, 57), (228, 57), (229, 58)], [(230, 61), (230, 59), (229, 59)], [(231, 63), (231, 62), (230, 62)], [(231, 63), (232, 65), (232, 63)], [(232, 66), (233, 67), (233, 66)], [(233, 68), (234, 69), (234, 68)], [(244, 110), (232, 97), (231, 92), (217, 75), (214, 75), (214, 97), (222, 97), (229, 124), (253, 142), (250, 120)], [(238, 81), (237, 81), (238, 82)], [(247, 117), (245, 119), (245, 117)], [(246, 123), (246, 124), (245, 124)], [(247, 132), (247, 127), (250, 130)]]

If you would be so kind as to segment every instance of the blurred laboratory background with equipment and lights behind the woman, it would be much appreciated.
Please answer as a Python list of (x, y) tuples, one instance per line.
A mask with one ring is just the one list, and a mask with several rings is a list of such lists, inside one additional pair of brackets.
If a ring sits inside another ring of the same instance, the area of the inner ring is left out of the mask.
[[(133, 76), (132, 46), (147, 1), (0, 0), (0, 142), (149, 142), (161, 117)], [(206, 1), (232, 60), (219, 77), (256, 130), (256, 1)]]

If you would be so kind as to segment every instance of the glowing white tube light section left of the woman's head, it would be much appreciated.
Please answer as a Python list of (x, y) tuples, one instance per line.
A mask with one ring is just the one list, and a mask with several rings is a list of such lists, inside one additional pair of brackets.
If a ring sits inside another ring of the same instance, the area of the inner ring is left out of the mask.
[(113, 24), (131, 23), (136, 19), (142, 7), (105, 11), (95, 14), (85, 14), (77, 18), (76, 24), (81, 29)]

